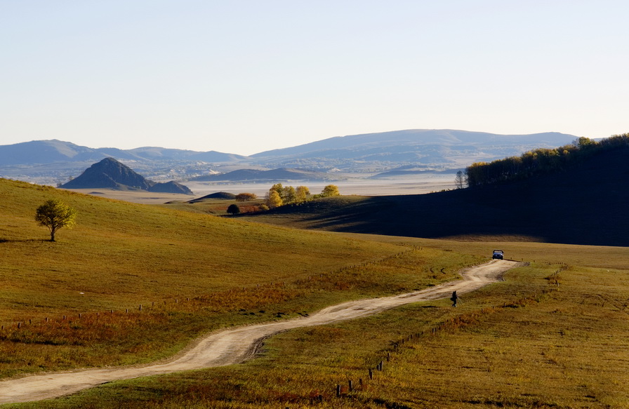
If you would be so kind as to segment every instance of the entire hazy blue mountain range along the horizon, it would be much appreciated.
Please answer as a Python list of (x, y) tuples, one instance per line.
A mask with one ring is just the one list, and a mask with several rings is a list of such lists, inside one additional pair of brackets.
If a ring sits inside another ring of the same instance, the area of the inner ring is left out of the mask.
[[(38, 140), (0, 146), (0, 177), (44, 184), (65, 182), (106, 157), (125, 163), (153, 180), (238, 180), (234, 170), (301, 169), (359, 177), (416, 168), (448, 170), (515, 156), (531, 149), (558, 147), (576, 140), (564, 133), (496, 135), (465, 130), (397, 130), (384, 133), (327, 138), (296, 147), (274, 149), (251, 156), (216, 151), (139, 147), (91, 148), (60, 140)], [(223, 176), (213, 176), (213, 175)], [(212, 175), (212, 176), (211, 176)], [(223, 177), (223, 179), (220, 179)], [(266, 180), (267, 177), (264, 177)]]

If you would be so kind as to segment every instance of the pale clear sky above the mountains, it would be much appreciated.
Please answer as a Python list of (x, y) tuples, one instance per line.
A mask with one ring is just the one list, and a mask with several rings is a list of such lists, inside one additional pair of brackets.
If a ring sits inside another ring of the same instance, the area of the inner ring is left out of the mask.
[(626, 0), (0, 0), (0, 145), (629, 132)]

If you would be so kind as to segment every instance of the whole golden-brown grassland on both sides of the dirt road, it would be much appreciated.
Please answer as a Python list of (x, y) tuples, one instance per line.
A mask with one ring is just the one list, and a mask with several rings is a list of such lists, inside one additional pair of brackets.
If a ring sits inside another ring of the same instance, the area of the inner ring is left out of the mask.
[[(4, 407), (629, 408), (629, 248), (303, 232), (9, 181), (0, 193), (3, 377), (163, 358), (214, 328), (455, 279), (493, 248), (530, 263), (456, 309), (411, 304), (276, 335), (240, 365)], [(79, 210), (57, 243), (32, 220), (51, 196)]]

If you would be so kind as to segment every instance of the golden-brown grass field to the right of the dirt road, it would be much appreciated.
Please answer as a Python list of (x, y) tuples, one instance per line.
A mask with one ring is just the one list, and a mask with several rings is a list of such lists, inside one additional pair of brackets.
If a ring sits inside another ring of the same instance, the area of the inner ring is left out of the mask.
[(409, 240), (450, 254), (500, 246), (531, 264), (466, 295), (456, 309), (437, 300), (292, 330), (243, 365), (110, 382), (10, 407), (628, 407), (628, 248)]

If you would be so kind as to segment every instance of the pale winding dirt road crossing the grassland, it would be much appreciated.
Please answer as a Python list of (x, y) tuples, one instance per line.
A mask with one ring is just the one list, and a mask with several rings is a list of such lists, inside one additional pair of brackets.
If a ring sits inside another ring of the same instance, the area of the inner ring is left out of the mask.
[(334, 305), (310, 316), (287, 321), (233, 328), (213, 333), (198, 341), (185, 354), (172, 361), (147, 366), (76, 370), (64, 373), (32, 375), (0, 382), (0, 403), (17, 403), (55, 398), (94, 387), (113, 380), (125, 380), (180, 370), (225, 366), (253, 356), (256, 346), (270, 335), (291, 328), (318, 326), (376, 314), (411, 302), (449, 297), (453, 291), (461, 295), (498, 281), (517, 262), (493, 260), (462, 273), (463, 280), (395, 297), (372, 298)]

